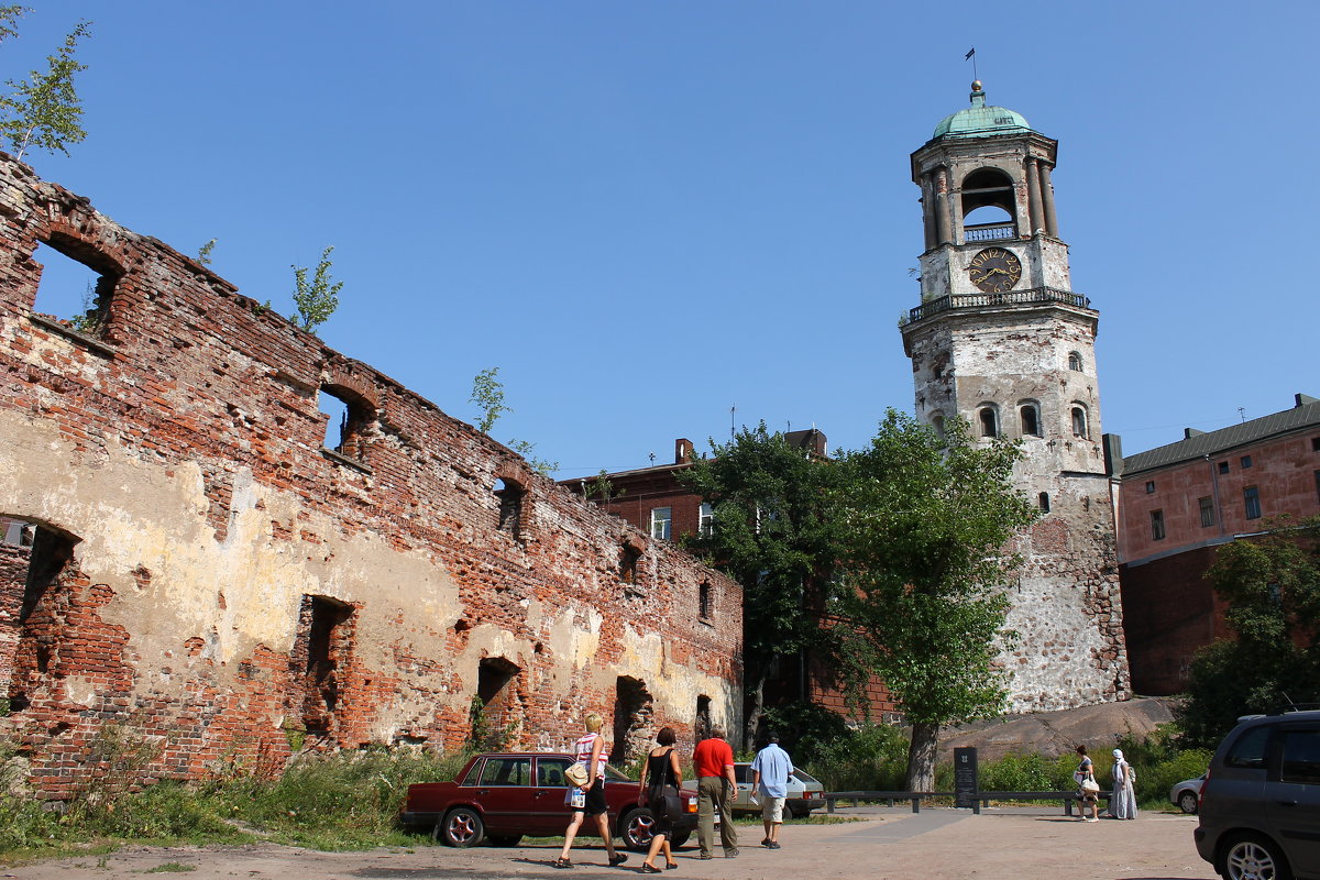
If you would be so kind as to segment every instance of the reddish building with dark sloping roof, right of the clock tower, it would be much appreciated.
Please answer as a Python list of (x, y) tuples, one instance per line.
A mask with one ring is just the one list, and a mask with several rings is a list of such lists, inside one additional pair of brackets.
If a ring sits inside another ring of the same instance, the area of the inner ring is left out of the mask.
[(1320, 400), (1121, 458), (1118, 557), (1133, 687), (1185, 689), (1192, 654), (1230, 635), (1206, 569), (1271, 517), (1320, 516)]

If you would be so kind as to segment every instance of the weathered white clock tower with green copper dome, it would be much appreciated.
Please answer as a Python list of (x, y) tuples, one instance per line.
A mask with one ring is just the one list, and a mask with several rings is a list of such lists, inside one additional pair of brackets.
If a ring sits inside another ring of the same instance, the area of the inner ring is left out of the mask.
[(1114, 503), (1100, 433), (1100, 314), (1073, 292), (1051, 172), (1059, 142), (1020, 113), (986, 104), (946, 116), (912, 153), (925, 249), (921, 302), (902, 322), (916, 414), (937, 430), (1020, 441), (1018, 488), (1040, 520), (1014, 548), (1002, 657), (1011, 711), (1130, 695)]

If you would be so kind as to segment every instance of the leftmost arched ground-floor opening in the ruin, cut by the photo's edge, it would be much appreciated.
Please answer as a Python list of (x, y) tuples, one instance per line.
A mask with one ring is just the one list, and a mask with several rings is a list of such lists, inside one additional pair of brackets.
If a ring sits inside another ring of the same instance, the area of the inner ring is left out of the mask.
[(37, 678), (58, 658), (70, 565), (81, 538), (29, 520), (0, 517), (0, 697), (28, 708)]

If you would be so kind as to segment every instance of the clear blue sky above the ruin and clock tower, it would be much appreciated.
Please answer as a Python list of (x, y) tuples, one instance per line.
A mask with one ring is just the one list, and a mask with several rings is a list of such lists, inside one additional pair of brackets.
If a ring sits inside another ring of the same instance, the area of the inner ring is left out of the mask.
[(292, 311), (560, 478), (737, 424), (866, 442), (912, 409), (908, 154), (968, 103), (1060, 141), (1073, 288), (1101, 313), (1102, 429), (1135, 453), (1320, 396), (1316, 3), (51, 0), (88, 137), (45, 179)]

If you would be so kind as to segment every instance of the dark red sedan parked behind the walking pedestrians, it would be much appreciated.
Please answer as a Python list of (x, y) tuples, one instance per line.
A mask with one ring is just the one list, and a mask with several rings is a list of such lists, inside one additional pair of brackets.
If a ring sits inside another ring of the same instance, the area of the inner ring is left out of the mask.
[[(564, 770), (573, 757), (562, 753), (500, 752), (478, 755), (453, 782), (417, 782), (399, 813), (403, 825), (434, 829), (434, 836), (455, 847), (490, 840), (515, 846), (523, 835), (557, 836), (568, 827), (572, 809), (564, 802)], [(682, 846), (697, 827), (697, 793), (682, 792), (684, 815), (675, 823), (672, 846)], [(606, 767), (605, 801), (614, 834), (630, 850), (651, 843), (651, 810), (638, 801), (638, 782)], [(583, 822), (579, 836), (595, 835)]]

